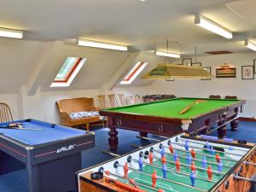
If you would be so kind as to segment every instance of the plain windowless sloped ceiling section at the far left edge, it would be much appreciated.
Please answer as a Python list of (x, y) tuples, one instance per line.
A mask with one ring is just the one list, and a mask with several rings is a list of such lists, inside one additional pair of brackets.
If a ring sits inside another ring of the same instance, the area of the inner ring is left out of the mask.
[(44, 44), (0, 38), (0, 94), (16, 93), (27, 83)]

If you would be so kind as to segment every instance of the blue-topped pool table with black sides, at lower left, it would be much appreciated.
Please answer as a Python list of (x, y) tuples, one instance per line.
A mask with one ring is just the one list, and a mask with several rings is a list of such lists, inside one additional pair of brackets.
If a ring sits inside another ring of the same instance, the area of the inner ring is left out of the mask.
[(0, 128), (0, 174), (26, 168), (29, 192), (75, 190), (81, 151), (95, 146), (95, 135), (35, 119), (9, 123), (21, 123), (25, 129)]

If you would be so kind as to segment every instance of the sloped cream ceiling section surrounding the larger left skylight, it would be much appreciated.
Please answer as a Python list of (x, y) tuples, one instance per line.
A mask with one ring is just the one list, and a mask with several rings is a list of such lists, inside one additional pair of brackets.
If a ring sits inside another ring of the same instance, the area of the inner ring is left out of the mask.
[[(57, 50), (56, 59), (52, 61), (48, 77), (40, 85), (41, 90), (90, 90), (100, 89), (107, 83), (120, 65), (129, 56), (128, 52), (108, 49), (85, 48), (75, 45), (64, 44)], [(84, 66), (73, 80), (71, 86), (67, 88), (50, 88), (49, 84), (55, 79), (67, 56), (79, 56), (87, 58)]]

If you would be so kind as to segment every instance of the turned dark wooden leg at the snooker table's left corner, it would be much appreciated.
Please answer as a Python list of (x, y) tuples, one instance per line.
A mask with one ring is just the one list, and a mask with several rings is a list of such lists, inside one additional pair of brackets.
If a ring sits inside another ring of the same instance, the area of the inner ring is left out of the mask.
[(108, 117), (108, 145), (111, 150), (116, 150), (119, 144), (118, 131), (114, 125), (114, 118)]

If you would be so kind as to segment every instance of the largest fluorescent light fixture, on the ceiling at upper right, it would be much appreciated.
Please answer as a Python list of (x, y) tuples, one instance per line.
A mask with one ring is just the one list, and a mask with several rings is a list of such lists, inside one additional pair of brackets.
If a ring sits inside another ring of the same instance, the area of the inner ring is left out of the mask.
[(201, 15), (195, 16), (195, 25), (201, 26), (207, 29), (208, 31), (215, 32), (224, 38), (233, 38), (232, 32), (225, 29), (223, 26), (219, 26), (217, 23), (213, 22), (212, 20), (208, 20), (207, 18)]

